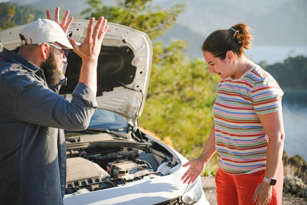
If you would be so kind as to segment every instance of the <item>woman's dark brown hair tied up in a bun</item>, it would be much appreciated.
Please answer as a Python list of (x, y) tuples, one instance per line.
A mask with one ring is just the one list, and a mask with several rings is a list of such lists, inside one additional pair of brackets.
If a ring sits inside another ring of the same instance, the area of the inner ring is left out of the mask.
[(243, 54), (243, 49), (252, 46), (253, 37), (248, 32), (249, 26), (244, 23), (236, 24), (232, 29), (220, 29), (211, 33), (203, 43), (202, 50), (208, 51), (214, 57), (226, 58), (227, 51), (232, 51), (237, 56)]

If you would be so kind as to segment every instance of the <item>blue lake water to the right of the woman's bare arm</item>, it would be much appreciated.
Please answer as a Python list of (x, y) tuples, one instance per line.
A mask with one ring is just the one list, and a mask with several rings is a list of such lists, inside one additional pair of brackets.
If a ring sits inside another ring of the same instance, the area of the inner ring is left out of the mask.
[(290, 156), (299, 154), (307, 160), (307, 90), (301, 93), (285, 91), (282, 115), (284, 150)]

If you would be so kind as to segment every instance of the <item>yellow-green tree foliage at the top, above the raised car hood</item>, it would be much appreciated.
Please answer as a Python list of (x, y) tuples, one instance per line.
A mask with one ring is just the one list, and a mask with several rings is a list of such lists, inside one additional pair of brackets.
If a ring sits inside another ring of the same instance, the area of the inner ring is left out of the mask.
[(154, 39), (175, 23), (184, 6), (175, 5), (164, 10), (161, 7), (153, 7), (151, 2), (151, 0), (123, 0), (118, 1), (117, 6), (103, 6), (99, 0), (87, 0), (90, 8), (84, 10), (82, 15), (86, 15), (87, 19), (104, 16), (109, 22), (142, 31), (150, 39)]

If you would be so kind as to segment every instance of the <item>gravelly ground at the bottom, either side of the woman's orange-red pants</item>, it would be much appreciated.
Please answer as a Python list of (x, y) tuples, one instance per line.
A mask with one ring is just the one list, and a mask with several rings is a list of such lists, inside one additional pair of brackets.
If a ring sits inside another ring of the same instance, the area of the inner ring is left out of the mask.
[[(203, 189), (207, 200), (211, 205), (217, 205), (216, 201), (216, 191), (215, 191), (215, 181), (214, 177), (201, 177)], [(290, 194), (282, 194), (282, 205), (306, 205), (307, 199), (291, 196)]]

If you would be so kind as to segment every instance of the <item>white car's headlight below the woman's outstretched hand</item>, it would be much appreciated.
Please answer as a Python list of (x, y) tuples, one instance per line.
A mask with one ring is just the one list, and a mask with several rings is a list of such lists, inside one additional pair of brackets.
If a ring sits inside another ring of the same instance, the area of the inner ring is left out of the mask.
[(181, 201), (186, 204), (193, 204), (198, 201), (203, 192), (201, 178), (197, 177), (194, 183), (185, 191), (185, 193), (181, 197)]

